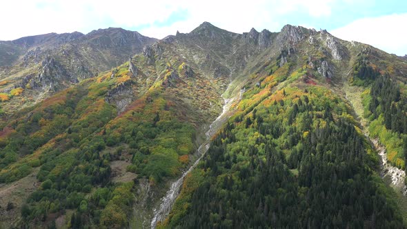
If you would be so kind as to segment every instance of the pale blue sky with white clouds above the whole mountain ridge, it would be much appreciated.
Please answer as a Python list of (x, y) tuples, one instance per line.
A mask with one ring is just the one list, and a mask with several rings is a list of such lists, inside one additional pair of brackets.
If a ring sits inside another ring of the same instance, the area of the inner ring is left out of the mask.
[(398, 55), (407, 54), (406, 0), (2, 0), (0, 40), (49, 32), (120, 27), (161, 39), (203, 21), (231, 32), (286, 24), (326, 29)]

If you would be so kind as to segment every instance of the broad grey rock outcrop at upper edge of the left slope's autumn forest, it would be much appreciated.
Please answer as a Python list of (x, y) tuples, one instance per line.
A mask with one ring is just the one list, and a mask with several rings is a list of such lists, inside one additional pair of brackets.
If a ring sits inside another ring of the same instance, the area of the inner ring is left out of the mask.
[(115, 104), (118, 114), (126, 110), (126, 107), (134, 99), (132, 84), (133, 82), (131, 80), (124, 81), (109, 90), (108, 94), (106, 94), (106, 103)]

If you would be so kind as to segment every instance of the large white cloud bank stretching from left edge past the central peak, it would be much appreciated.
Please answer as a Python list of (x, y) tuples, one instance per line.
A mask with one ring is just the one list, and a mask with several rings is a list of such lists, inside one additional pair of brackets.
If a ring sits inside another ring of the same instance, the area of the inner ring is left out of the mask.
[[(0, 40), (48, 32), (90, 32), (98, 28), (143, 26), (142, 34), (163, 38), (168, 34), (190, 32), (203, 21), (209, 21), (232, 32), (255, 27), (279, 30), (284, 14), (305, 11), (310, 17), (330, 14), (337, 0), (5, 0), (0, 8)], [(182, 21), (163, 26), (175, 12), (188, 12)], [(161, 26), (157, 26), (157, 23)], [(146, 28), (146, 25), (148, 27)]]

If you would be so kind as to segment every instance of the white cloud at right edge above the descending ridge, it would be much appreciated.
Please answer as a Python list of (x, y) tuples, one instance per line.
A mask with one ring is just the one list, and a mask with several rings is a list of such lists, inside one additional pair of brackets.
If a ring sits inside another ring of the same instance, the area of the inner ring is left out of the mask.
[(386, 52), (404, 56), (407, 54), (406, 25), (407, 13), (391, 14), (359, 19), (331, 33), (341, 39), (368, 43)]

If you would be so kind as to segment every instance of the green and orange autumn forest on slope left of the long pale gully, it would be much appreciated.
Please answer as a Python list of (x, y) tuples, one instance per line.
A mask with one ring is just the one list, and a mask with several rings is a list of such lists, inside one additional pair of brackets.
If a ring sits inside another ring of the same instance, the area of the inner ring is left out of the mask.
[[(117, 83), (132, 79), (126, 74), (106, 77), (110, 74), (59, 92), (15, 115), (4, 128), (0, 183), (34, 171), (41, 182), (21, 207), (23, 226), (54, 228), (55, 219), (69, 212), (70, 228), (123, 228), (139, 179), (154, 187), (179, 175), (188, 163), (195, 128), (177, 119), (162, 88), (150, 90), (117, 116), (103, 97)], [(117, 160), (129, 162), (126, 170), (137, 174), (134, 180), (112, 182), (110, 165)]]

